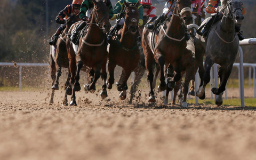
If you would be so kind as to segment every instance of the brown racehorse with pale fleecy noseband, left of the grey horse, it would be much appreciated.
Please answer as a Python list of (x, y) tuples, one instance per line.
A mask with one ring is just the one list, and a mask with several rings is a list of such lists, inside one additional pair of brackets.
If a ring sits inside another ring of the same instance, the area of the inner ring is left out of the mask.
[[(168, 19), (165, 25), (161, 25), (158, 34), (151, 34), (146, 28), (142, 33), (142, 47), (145, 54), (145, 63), (148, 71), (147, 78), (150, 85), (149, 102), (155, 102), (153, 91), (153, 62), (154, 60), (160, 66), (161, 77), (158, 91), (166, 89), (164, 65), (169, 64), (176, 72), (173, 80), (179, 81), (182, 71), (182, 55), (185, 52), (186, 40), (184, 23), (185, 20), (191, 18), (191, 1), (190, 0), (177, 0), (175, 1), (174, 12), (171, 19)], [(151, 38), (155, 36), (155, 38)], [(155, 45), (155, 47), (154, 47)]]

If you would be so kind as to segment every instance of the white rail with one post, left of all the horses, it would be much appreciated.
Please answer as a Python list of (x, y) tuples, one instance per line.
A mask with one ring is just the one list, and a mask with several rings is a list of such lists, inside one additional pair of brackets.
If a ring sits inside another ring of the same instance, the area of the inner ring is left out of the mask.
[(47, 67), (49, 63), (5, 63), (0, 62), (0, 66), (18, 66), (19, 67), (19, 91), (21, 91), (22, 66), (27, 67)]

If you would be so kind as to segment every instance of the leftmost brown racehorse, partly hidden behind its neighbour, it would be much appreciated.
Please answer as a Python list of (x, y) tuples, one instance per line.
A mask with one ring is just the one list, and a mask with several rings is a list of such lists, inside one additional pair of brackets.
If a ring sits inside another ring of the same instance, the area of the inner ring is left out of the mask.
[[(60, 37), (57, 39), (55, 47), (51, 45), (50, 47), (50, 66), (51, 66), (51, 77), (52, 77), (52, 94), (50, 104), (53, 103), (54, 91), (59, 90), (59, 77), (61, 76), (61, 67), (68, 68), (68, 53), (66, 46), (67, 32), (71, 25), (78, 21), (75, 14), (70, 14), (67, 18), (67, 26), (63, 30)], [(54, 51), (55, 50), (55, 51)], [(55, 52), (55, 53), (54, 53)], [(70, 71), (68, 69), (68, 78), (65, 83), (65, 90), (69, 85)], [(68, 105), (67, 103), (67, 93), (65, 92), (65, 97), (63, 100), (63, 105)]]

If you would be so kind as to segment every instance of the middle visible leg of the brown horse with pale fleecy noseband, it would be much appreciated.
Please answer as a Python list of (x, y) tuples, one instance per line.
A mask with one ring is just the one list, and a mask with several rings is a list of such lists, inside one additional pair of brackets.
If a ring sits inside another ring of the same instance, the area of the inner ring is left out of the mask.
[(159, 49), (156, 50), (155, 54), (159, 55), (159, 57), (157, 58), (157, 61), (160, 66), (160, 83), (158, 85), (158, 91), (164, 91), (166, 90), (165, 76), (164, 76), (165, 59), (161, 54), (161, 51), (159, 51)]

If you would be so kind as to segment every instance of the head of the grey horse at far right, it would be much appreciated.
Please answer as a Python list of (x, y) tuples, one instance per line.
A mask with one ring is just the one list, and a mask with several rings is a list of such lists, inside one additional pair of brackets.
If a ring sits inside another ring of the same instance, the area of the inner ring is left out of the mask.
[(243, 2), (241, 0), (221, 0), (222, 8), (225, 9), (225, 15), (235, 21), (237, 25), (242, 25), (244, 16)]

